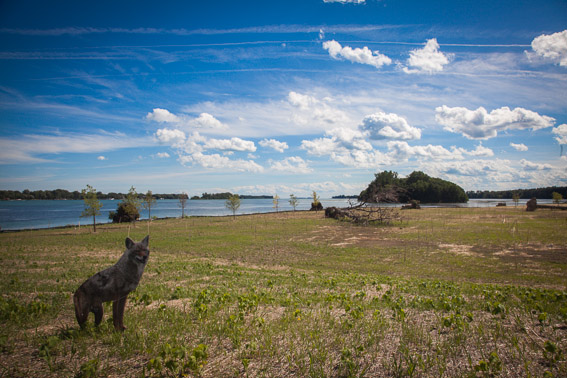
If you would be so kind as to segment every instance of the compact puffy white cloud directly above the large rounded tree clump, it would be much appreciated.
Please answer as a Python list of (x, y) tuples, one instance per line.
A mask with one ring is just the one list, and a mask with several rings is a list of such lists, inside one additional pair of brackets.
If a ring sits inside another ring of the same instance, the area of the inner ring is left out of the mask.
[(371, 139), (414, 140), (421, 138), (421, 130), (408, 124), (405, 118), (394, 113), (378, 112), (362, 120), (359, 129)]

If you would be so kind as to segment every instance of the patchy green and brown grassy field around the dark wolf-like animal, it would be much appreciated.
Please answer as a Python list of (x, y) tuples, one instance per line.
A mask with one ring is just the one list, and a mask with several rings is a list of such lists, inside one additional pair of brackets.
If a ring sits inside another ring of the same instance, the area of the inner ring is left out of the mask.
[[(565, 377), (567, 212), (422, 209), (0, 234), (1, 377)], [(123, 334), (72, 293), (130, 235)]]

